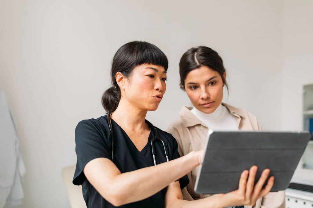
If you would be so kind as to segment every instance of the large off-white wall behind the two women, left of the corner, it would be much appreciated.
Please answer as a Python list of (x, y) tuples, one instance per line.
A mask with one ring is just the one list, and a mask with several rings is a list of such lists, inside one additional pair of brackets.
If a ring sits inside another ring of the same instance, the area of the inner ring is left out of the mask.
[(148, 114), (156, 126), (165, 129), (190, 105), (178, 62), (205, 45), (225, 62), (227, 102), (254, 113), (264, 129), (280, 129), (286, 9), (292, 5), (284, 10), (282, 0), (0, 1), (0, 88), (17, 118), (27, 169), (22, 207), (69, 207), (60, 171), (76, 162), (74, 128), (105, 113), (100, 98), (111, 59), (132, 40), (154, 43), (169, 59), (167, 93)]

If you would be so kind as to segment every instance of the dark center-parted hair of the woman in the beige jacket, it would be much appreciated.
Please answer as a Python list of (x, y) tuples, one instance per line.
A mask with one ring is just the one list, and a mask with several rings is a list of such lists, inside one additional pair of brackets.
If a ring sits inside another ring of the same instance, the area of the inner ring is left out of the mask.
[(218, 72), (228, 91), (228, 84), (223, 77), (224, 72), (226, 72), (223, 60), (216, 51), (206, 46), (190, 48), (182, 55), (179, 62), (179, 75), (180, 88), (183, 91), (185, 91), (185, 79), (187, 74), (202, 66), (207, 66), (213, 71)]

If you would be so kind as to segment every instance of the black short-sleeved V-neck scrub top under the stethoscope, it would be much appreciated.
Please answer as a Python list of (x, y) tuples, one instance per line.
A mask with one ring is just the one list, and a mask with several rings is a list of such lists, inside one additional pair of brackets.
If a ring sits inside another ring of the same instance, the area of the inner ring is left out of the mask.
[[(154, 137), (154, 131), (151, 129), (148, 142), (146, 146), (138, 151), (126, 132), (113, 119), (111, 119), (114, 131), (115, 142), (115, 156), (114, 163), (121, 171), (121, 173), (138, 170), (140, 168), (154, 166), (151, 138)], [(168, 148), (169, 160), (179, 157), (177, 151), (177, 142), (175, 138), (159, 128), (156, 128), (159, 136), (165, 141)], [(77, 163), (74, 173), (73, 183), (75, 185), (82, 185), (83, 196), (87, 207), (109, 208), (115, 207), (110, 202), (106, 201), (98, 191), (86, 179), (83, 169), (85, 165), (99, 157), (108, 158), (111, 160), (111, 140), (110, 127), (107, 121), (107, 115), (101, 116), (97, 119), (83, 120), (78, 123), (75, 129), (76, 155)], [(156, 151), (156, 164), (166, 162), (164, 147), (161, 141), (154, 141)], [(151, 178), (153, 180), (153, 177)], [(189, 183), (187, 176), (179, 179), (180, 187), (183, 189)], [(126, 204), (120, 207), (164, 207), (164, 197), (166, 188), (157, 192), (141, 201)]]

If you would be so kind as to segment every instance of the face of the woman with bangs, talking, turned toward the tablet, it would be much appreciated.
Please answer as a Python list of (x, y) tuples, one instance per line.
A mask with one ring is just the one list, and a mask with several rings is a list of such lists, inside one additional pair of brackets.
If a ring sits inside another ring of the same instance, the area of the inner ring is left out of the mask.
[(136, 66), (125, 87), (125, 97), (134, 106), (155, 111), (166, 91), (164, 67), (142, 64)]

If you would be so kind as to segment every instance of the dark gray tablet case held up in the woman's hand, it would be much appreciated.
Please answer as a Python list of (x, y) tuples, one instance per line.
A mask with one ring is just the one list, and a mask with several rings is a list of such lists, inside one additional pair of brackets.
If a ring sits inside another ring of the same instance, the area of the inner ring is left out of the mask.
[(257, 181), (265, 168), (275, 177), (271, 191), (288, 188), (308, 144), (309, 132), (209, 131), (206, 152), (197, 176), (199, 194), (238, 189), (242, 171), (257, 165)]

